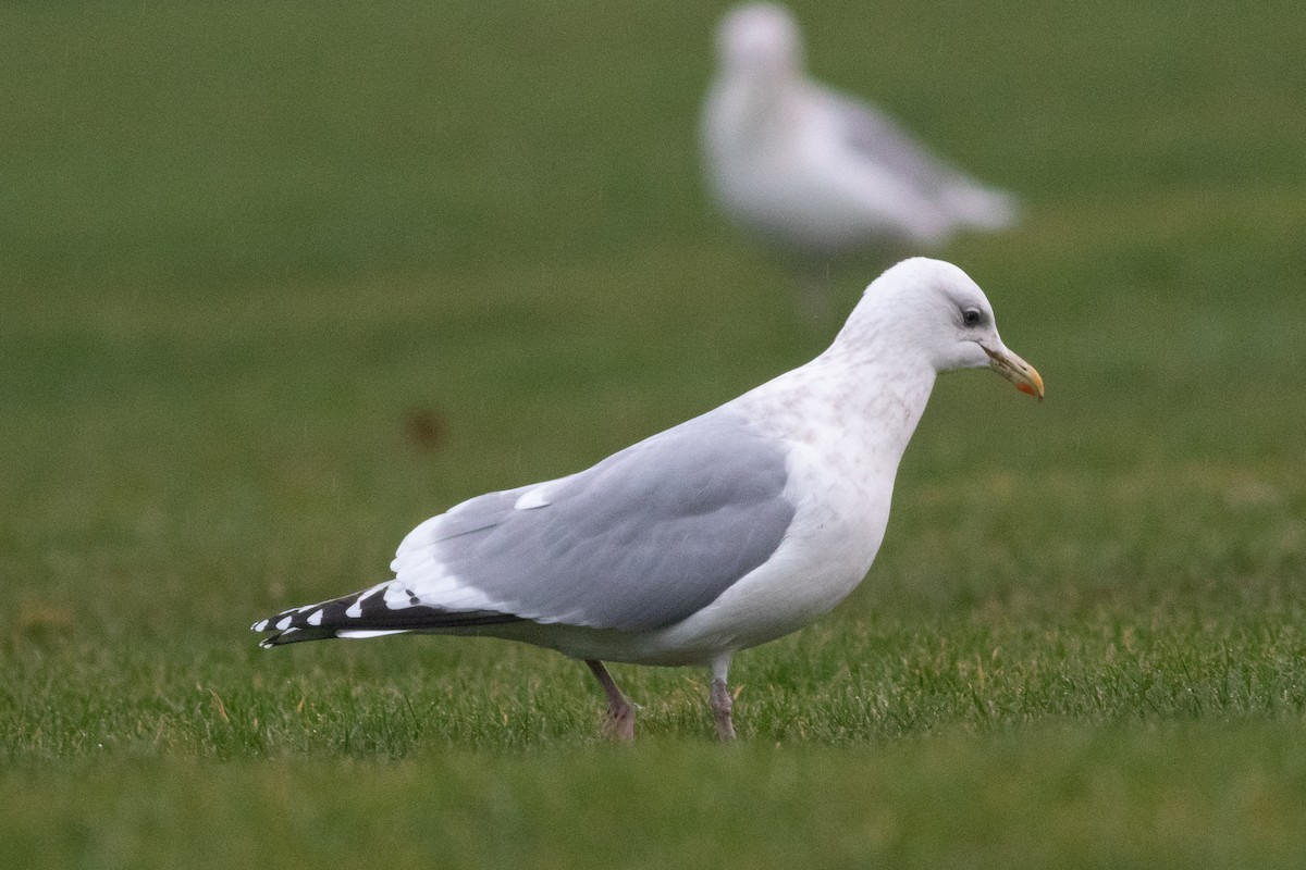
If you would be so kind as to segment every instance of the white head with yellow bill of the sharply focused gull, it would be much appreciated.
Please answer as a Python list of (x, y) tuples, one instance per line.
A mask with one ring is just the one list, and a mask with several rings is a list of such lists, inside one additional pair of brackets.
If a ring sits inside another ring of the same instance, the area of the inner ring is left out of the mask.
[(936, 373), (990, 368), (1021, 393), (1043, 398), (1042, 377), (998, 335), (983, 291), (940, 260), (904, 260), (871, 282), (831, 350), (852, 348), (917, 359)]

